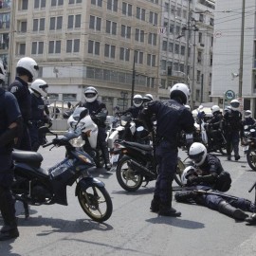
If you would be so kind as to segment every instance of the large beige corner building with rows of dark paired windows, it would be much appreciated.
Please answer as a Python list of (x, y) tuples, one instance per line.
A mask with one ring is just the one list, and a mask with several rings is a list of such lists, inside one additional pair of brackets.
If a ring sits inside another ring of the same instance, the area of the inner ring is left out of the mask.
[(81, 101), (84, 88), (95, 86), (111, 113), (128, 107), (133, 83), (134, 94), (156, 96), (159, 2), (12, 1), (11, 79), (17, 61), (30, 56), (51, 100)]

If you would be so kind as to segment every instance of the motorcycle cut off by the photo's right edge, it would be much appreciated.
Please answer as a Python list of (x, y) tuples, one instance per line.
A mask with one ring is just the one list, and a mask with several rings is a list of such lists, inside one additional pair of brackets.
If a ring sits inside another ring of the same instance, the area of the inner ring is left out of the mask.
[(242, 140), (244, 154), (247, 155), (249, 167), (256, 171), (256, 130), (246, 125), (244, 127), (245, 137)]

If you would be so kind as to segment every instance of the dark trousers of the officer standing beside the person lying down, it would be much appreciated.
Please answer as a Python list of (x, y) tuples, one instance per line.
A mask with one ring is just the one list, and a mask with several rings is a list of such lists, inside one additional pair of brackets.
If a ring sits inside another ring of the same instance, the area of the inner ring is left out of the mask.
[(172, 202), (172, 182), (177, 166), (177, 150), (171, 143), (162, 140), (156, 147), (155, 155), (159, 172), (155, 183), (155, 196), (159, 197), (162, 203)]

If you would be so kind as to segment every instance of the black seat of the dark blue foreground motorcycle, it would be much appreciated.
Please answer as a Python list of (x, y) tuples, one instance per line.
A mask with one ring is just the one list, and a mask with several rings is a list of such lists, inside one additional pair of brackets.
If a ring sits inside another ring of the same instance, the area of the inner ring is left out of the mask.
[(12, 158), (17, 162), (24, 162), (24, 163), (40, 164), (43, 161), (43, 156), (40, 153), (33, 152), (33, 151), (14, 150), (12, 152)]

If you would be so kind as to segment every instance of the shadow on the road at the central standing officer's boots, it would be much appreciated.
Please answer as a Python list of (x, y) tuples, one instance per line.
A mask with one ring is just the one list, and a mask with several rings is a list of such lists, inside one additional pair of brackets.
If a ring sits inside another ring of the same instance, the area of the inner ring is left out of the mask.
[(174, 217), (165, 217), (156, 215), (155, 218), (147, 219), (147, 222), (153, 224), (170, 224), (174, 227), (182, 228), (182, 229), (204, 229), (205, 225), (200, 222), (192, 221), (192, 220), (184, 220), (182, 218), (174, 218)]

